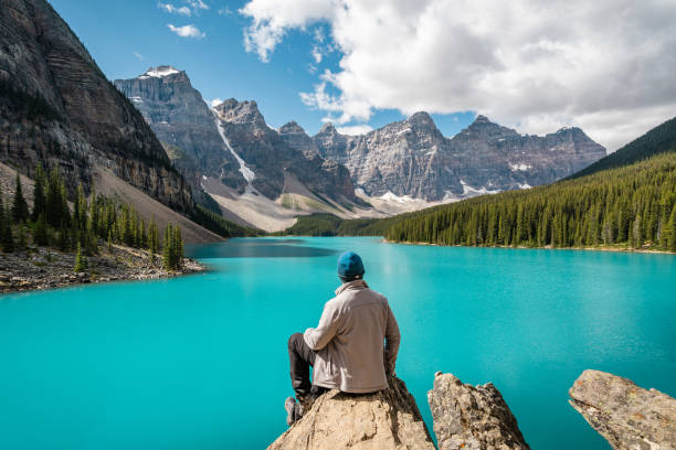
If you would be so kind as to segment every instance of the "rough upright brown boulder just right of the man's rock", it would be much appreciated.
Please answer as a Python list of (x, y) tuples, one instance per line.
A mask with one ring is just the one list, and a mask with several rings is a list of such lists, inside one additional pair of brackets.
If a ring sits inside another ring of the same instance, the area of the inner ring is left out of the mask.
[(427, 400), (440, 450), (529, 449), (492, 383), (472, 386), (437, 372)]

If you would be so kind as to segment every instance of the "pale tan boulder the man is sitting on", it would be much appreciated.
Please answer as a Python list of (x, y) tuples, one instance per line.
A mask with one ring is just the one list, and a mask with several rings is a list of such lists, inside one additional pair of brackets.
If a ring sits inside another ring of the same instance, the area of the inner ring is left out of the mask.
[(374, 394), (330, 390), (268, 450), (434, 450), (413, 396), (399, 378)]

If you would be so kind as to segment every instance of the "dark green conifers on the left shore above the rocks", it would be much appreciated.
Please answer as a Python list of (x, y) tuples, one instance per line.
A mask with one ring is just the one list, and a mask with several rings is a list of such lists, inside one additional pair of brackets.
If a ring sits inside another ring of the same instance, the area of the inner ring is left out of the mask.
[[(57, 169), (47, 176), (39, 165), (35, 170), (33, 208), (29, 211), (21, 179), (17, 174), (12, 202), (0, 197), (0, 248), (11, 253), (35, 246), (59, 248), (62, 251), (77, 249), (76, 269), (83, 269), (82, 253), (95, 255), (99, 243), (142, 248), (152, 255), (162, 250), (163, 265), (169, 270), (180, 269), (183, 261), (181, 229), (169, 224), (160, 232), (157, 223), (141, 219), (133, 206), (117, 199), (97, 195), (94, 190), (87, 199), (82, 185), (68, 206), (65, 182)], [(11, 206), (10, 206), (11, 204)]]

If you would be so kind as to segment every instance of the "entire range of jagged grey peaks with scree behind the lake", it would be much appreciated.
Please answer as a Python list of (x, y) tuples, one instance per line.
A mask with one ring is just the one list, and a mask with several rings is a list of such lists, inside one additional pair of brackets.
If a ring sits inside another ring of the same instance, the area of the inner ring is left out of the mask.
[(265, 229), (299, 214), (387, 216), (528, 189), (605, 156), (579, 128), (528, 136), (484, 116), (453, 138), (422, 111), (361, 136), (341, 135), (331, 124), (311, 137), (295, 121), (275, 130), (253, 100), (209, 108), (187, 74), (171, 66), (115, 85), (162, 142), (188, 156), (173, 161), (193, 191), (209, 192), (225, 214)]

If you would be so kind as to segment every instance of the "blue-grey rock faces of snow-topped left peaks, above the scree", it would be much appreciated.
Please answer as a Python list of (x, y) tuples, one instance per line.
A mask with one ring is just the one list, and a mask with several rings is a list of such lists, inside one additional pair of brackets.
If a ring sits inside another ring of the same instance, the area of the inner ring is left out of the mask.
[(168, 153), (196, 191), (202, 189), (205, 175), (237, 194), (245, 192), (240, 163), (219, 133), (222, 127), (228, 144), (255, 174), (252, 186), (257, 193), (276, 200), (292, 175), (320, 200), (360, 204), (345, 167), (321, 158), (297, 124), (279, 131), (268, 127), (255, 101), (231, 98), (210, 109), (188, 75), (171, 66), (151, 67), (115, 85), (134, 101), (160, 140), (171, 146)]

